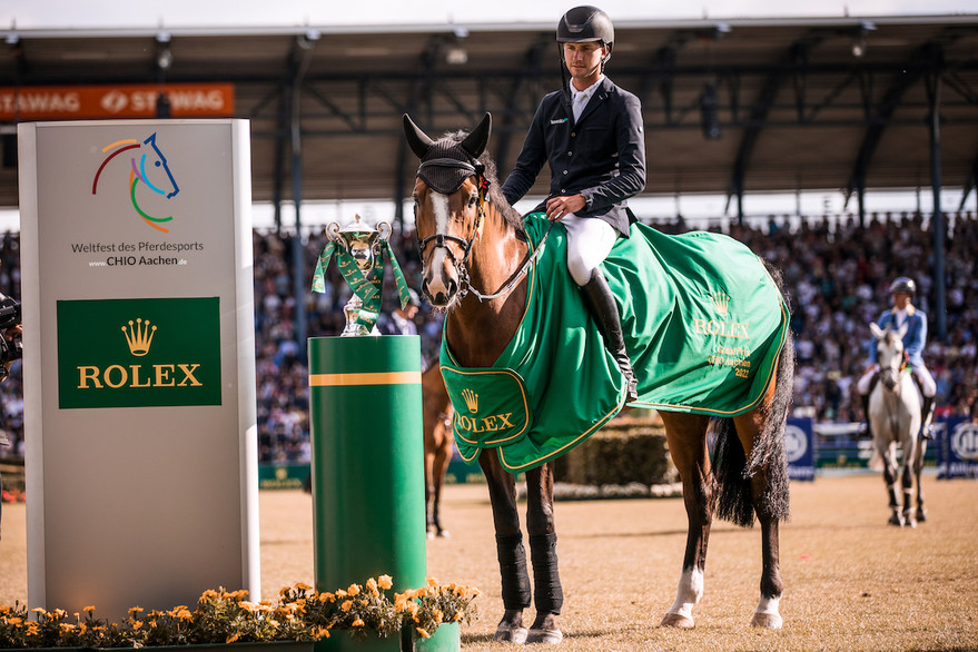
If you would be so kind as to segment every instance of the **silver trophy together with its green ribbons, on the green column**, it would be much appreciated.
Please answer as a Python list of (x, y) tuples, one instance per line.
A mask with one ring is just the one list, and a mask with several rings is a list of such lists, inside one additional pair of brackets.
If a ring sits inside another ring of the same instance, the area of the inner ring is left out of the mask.
[(316, 271), (313, 274), (313, 292), (325, 293), (326, 268), (333, 255), (336, 255), (339, 273), (353, 290), (353, 296), (344, 307), (346, 314), (344, 336), (369, 335), (374, 328), (383, 300), (381, 290), (384, 285), (384, 258), (391, 263), (401, 307), (406, 306), (409, 299), (407, 280), (387, 240), (391, 226), (382, 221), (377, 225), (377, 229), (372, 229), (360, 224), (359, 215), (355, 217), (354, 223), (342, 229), (336, 223), (327, 227), (329, 243), (323, 247)]

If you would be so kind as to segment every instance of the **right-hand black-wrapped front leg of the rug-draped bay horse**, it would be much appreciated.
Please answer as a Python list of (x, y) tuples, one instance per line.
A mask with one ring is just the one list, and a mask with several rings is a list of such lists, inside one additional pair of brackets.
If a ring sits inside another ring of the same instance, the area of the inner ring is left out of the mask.
[(530, 560), (533, 562), (533, 605), (536, 619), (530, 628), (527, 643), (560, 643), (563, 634), (556, 616), (564, 603), (557, 570), (557, 535), (553, 514), (553, 464), (526, 472), (526, 531), (530, 533)]

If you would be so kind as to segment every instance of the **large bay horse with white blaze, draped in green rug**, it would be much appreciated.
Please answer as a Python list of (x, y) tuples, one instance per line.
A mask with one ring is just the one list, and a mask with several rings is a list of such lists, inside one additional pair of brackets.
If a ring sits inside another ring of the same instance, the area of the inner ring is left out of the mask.
[[(407, 142), (422, 160), (413, 192), (415, 228), (424, 266), (422, 292), (433, 307), (446, 314), (443, 373), (446, 355), (465, 367), (492, 367), (524, 317), (532, 287), (526, 270), (542, 247), (531, 250), (523, 217), (498, 188), (495, 164), (485, 154), (488, 113), (472, 132), (457, 131), (438, 140), (425, 135), (407, 115), (403, 122)], [(757, 263), (753, 255), (750, 257)], [(563, 273), (566, 275), (566, 270)], [(581, 300), (579, 294), (572, 294)], [(724, 297), (717, 298), (717, 309), (725, 313)], [(770, 376), (762, 381), (755, 407), (715, 419), (712, 429), (718, 443), (712, 462), (707, 443), (711, 417), (668, 407), (661, 411), (689, 518), (679, 587), (662, 619), (663, 626), (694, 625), (692, 612), (703, 595), (707, 543), (714, 514), (742, 526), (752, 525), (757, 515), (762, 571), (760, 600), (751, 624), (770, 629), (782, 624), (779, 523), (789, 514), (783, 433), (794, 364), (790, 332), (787, 326), (783, 330), (787, 339)], [(624, 403), (624, 385), (620, 386), (622, 403), (618, 409)], [(477, 407), (478, 394), (468, 392), (464, 396), (463, 405), (455, 402), (456, 415), (466, 407), (470, 412)], [(562, 396), (555, 401), (563, 402), (567, 411), (574, 408), (573, 402)], [(508, 422), (510, 416), (502, 414), (480, 423), (495, 427)], [(456, 416), (456, 443), (460, 423), (465, 422)], [(475, 424), (472, 419), (470, 423)], [(493, 448), (477, 455), (488, 487), (502, 580), (504, 613), (494, 641), (557, 643), (563, 638), (557, 624), (563, 589), (556, 556), (553, 461), (525, 468), (526, 530), (534, 579), (531, 591), (515, 475), (505, 468), (501, 456)], [(523, 611), (531, 604), (531, 594), (536, 614), (527, 630)]]

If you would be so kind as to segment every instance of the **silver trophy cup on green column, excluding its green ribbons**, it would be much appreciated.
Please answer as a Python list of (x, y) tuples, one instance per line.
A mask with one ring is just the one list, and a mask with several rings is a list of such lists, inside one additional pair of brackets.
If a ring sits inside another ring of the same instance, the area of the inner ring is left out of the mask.
[[(360, 216), (355, 215), (354, 221), (343, 228), (337, 223), (333, 223), (326, 227), (326, 234), (337, 247), (349, 254), (356, 264), (357, 269), (363, 274), (364, 281), (374, 285), (377, 297), (381, 296), (381, 289), (384, 283), (383, 260), (381, 258), (381, 247), (384, 241), (391, 237), (391, 225), (386, 221), (377, 223), (377, 228), (372, 228), (360, 221)], [(374, 274), (377, 264), (381, 265), (381, 274)], [(340, 268), (342, 269), (342, 268)], [(350, 281), (349, 270), (343, 270), (343, 276), (347, 283)], [(360, 322), (360, 310), (364, 308), (364, 302), (357, 296), (358, 293), (354, 288), (349, 300), (343, 307), (343, 314), (346, 315), (346, 327), (340, 333), (340, 337), (359, 337), (369, 335), (369, 329)], [(376, 309), (379, 309), (377, 302)], [(376, 315), (374, 316), (376, 319)]]

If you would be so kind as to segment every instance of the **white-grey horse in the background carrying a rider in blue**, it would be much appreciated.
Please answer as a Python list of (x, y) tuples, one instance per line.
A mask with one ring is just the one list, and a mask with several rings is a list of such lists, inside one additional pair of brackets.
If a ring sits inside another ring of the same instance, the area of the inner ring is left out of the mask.
[[(920, 431), (920, 396), (903, 356), (903, 335), (907, 325), (899, 329), (880, 328), (870, 323), (876, 339), (879, 381), (869, 395), (869, 424), (872, 443), (883, 461), (883, 482), (890, 496), (890, 525), (916, 527), (927, 520), (923, 507), (923, 487), (920, 484), (927, 439), (918, 437)], [(902, 463), (897, 462), (897, 445), (902, 452)], [(902, 486), (902, 506), (897, 496), (897, 481)], [(913, 512), (913, 483), (917, 483), (917, 512)]]

